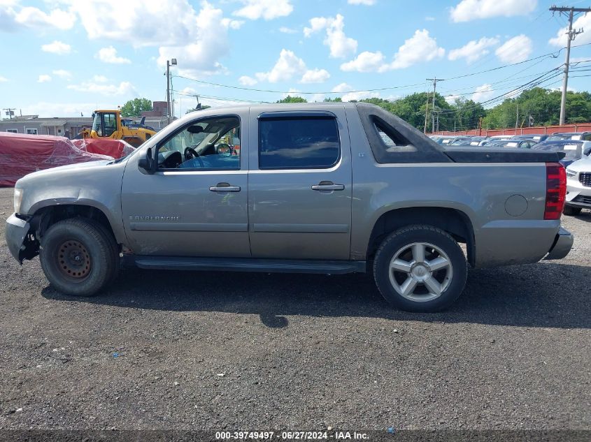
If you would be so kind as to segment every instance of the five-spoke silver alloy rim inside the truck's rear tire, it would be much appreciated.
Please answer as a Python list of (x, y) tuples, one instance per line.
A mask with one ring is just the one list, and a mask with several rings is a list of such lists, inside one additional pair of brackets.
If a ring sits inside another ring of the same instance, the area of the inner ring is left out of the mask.
[(414, 302), (426, 302), (446, 290), (453, 276), (453, 267), (450, 258), (439, 247), (413, 242), (394, 253), (388, 276), (399, 295)]

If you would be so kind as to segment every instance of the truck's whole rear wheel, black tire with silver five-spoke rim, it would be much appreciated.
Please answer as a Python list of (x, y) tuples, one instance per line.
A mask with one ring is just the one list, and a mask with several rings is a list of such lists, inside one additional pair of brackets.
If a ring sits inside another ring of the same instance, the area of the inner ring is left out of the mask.
[(449, 307), (466, 284), (462, 249), (445, 231), (407, 226), (388, 236), (373, 260), (373, 277), (387, 302), (406, 311)]

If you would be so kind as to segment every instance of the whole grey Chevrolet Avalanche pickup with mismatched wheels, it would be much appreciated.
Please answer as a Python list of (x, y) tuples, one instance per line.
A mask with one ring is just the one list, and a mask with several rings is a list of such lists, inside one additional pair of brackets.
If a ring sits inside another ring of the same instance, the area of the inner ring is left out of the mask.
[(129, 261), (373, 272), (395, 307), (437, 311), (462, 293), (468, 264), (569, 253), (561, 155), (443, 149), (362, 103), (209, 109), (122, 159), (20, 179), (6, 242), (20, 263), (39, 255), (68, 295), (98, 293)]

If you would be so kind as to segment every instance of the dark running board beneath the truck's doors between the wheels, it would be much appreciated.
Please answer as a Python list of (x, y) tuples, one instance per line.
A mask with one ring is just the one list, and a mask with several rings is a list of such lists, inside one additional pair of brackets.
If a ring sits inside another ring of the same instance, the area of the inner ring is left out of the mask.
[(220, 272), (269, 273), (364, 273), (365, 261), (287, 260), (259, 258), (183, 258), (166, 256), (129, 256), (141, 269), (210, 270)]

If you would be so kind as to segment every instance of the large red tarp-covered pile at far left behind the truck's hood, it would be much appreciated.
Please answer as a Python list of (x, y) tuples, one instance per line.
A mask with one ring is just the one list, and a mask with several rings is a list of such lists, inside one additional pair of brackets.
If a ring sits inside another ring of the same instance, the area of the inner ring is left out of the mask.
[(0, 186), (14, 186), (36, 170), (108, 159), (113, 158), (80, 149), (65, 137), (0, 132)]

